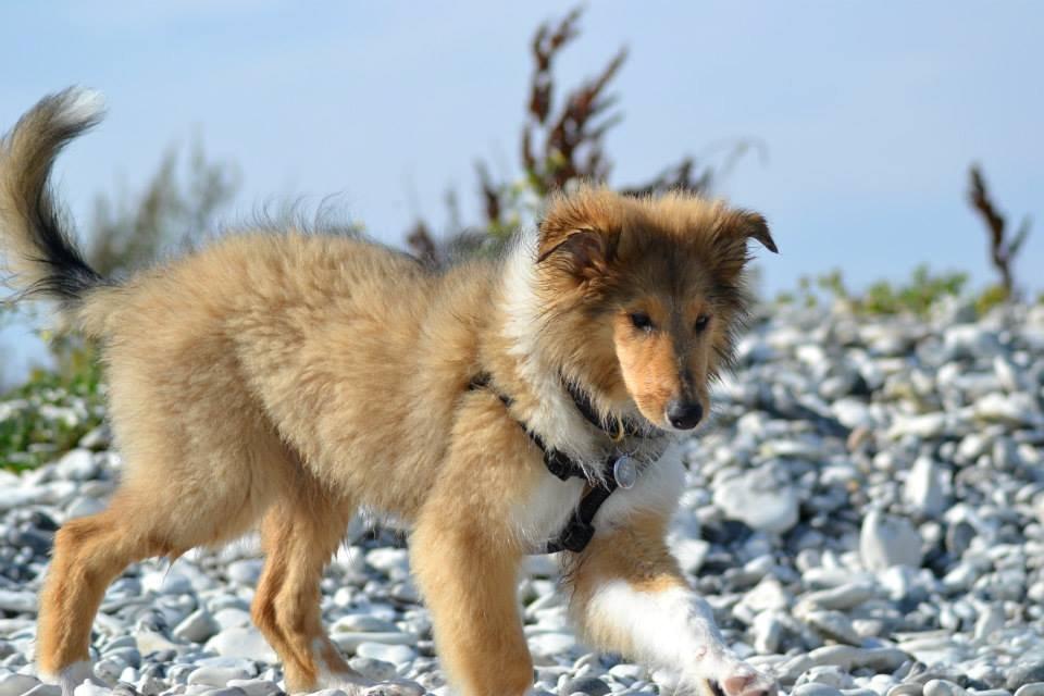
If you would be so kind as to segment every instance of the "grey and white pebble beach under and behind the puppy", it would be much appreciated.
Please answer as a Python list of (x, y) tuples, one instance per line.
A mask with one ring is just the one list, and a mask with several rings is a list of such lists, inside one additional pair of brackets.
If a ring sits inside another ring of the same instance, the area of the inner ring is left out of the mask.
[[(1044, 696), (1044, 306), (775, 307), (714, 395), (683, 442), (670, 544), (736, 652), (794, 696)], [(0, 401), (0, 421), (18, 407)], [(60, 696), (35, 675), (36, 594), (55, 530), (100, 510), (120, 468), (102, 427), (0, 470), (0, 696)], [(405, 544), (353, 523), (323, 616), (373, 696), (448, 695)], [(248, 536), (128, 569), (94, 626), (110, 687), (76, 696), (281, 693), (249, 618), (261, 564)], [(535, 694), (675, 693), (672, 674), (580, 643), (557, 584), (552, 558), (529, 559)]]

